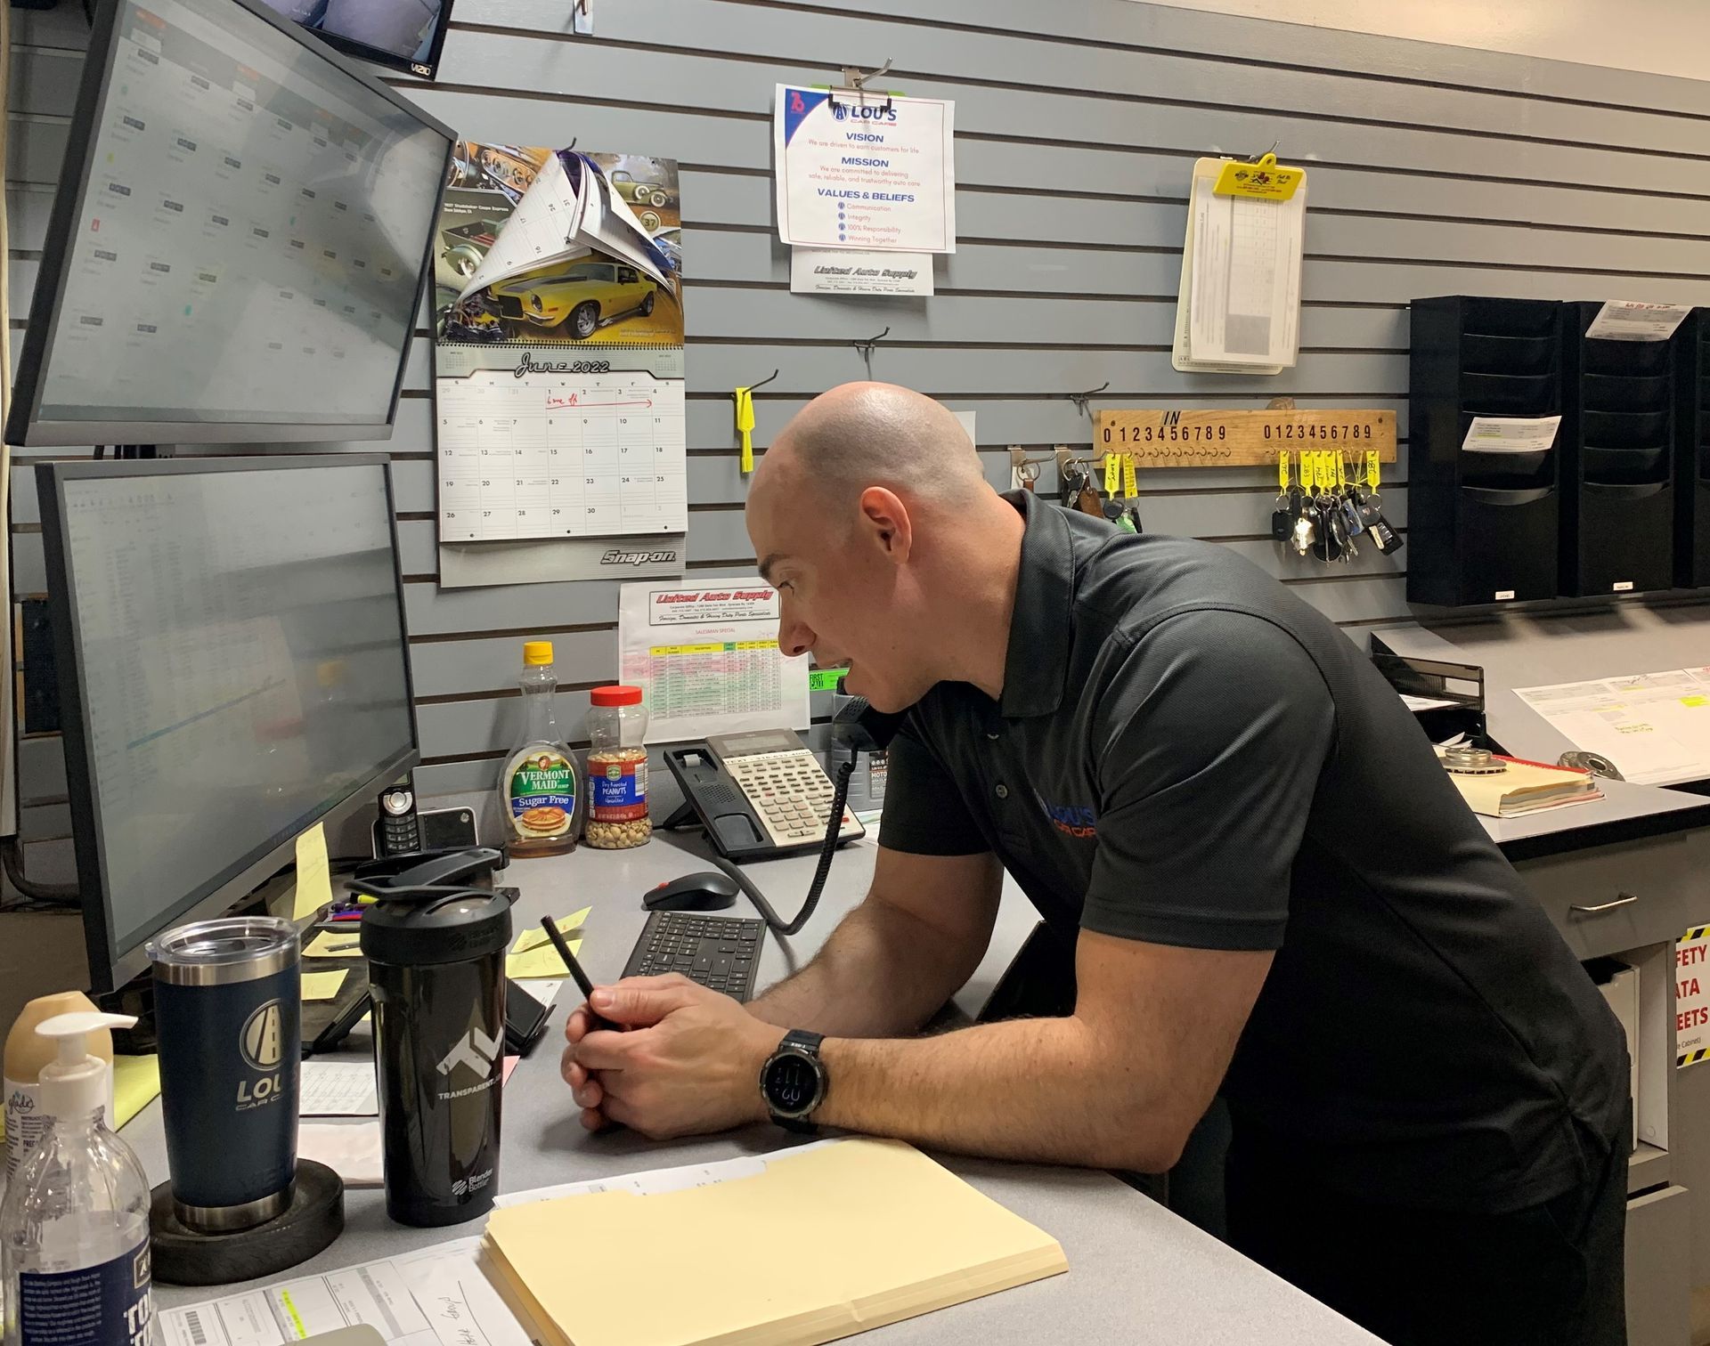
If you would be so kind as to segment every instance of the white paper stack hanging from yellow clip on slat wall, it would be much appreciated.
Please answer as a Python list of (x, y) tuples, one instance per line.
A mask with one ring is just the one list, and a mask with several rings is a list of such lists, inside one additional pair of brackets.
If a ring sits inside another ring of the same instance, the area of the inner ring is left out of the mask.
[(1219, 196), (1223, 159), (1194, 164), (1171, 364), (1279, 374), (1300, 354), (1306, 184), (1286, 202)]

